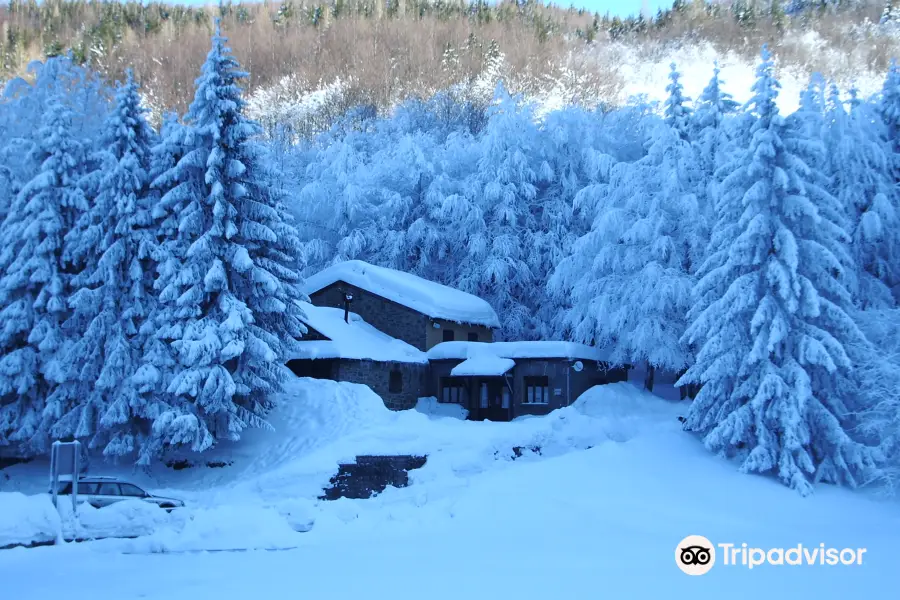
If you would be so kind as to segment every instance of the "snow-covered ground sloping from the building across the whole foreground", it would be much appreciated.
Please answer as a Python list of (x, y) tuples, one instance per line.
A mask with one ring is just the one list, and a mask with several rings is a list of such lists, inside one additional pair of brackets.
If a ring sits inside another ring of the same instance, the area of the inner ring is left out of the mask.
[[(172, 514), (135, 502), (85, 508), (78, 522), (66, 516), (55, 523), (47, 496), (35, 495), (46, 489), (46, 465), (5, 469), (0, 546), (4, 535), (67, 526), (138, 537), (0, 551), (3, 596), (895, 595), (896, 501), (831, 487), (804, 499), (740, 475), (681, 431), (680, 403), (622, 383), (513, 423), (467, 422), (452, 410), (422, 402), (394, 413), (364, 386), (295, 380), (273, 417), (274, 432), (252, 432), (203, 459), (229, 466), (159, 465), (151, 475), (119, 469), (151, 491), (185, 499), (188, 507)], [(540, 453), (515, 458), (514, 447)], [(316, 500), (338, 462), (359, 454), (427, 454), (428, 462), (410, 472), (407, 488), (370, 500)], [(689, 577), (674, 553), (691, 534), (737, 547), (825, 544), (866, 554), (853, 566), (751, 570), (719, 562)]]

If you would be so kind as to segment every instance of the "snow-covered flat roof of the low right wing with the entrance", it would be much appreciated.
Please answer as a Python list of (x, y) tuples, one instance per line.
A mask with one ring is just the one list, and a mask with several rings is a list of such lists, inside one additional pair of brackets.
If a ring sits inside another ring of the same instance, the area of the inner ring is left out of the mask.
[(605, 361), (609, 352), (574, 342), (441, 342), (428, 351), (430, 360), (495, 356), (509, 359), (566, 358)]

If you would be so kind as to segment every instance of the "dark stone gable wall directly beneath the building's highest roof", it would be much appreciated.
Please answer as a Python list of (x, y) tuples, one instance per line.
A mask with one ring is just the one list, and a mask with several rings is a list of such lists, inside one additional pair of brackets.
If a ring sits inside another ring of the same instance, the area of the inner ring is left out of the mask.
[(344, 308), (344, 292), (348, 290), (353, 294), (353, 302), (350, 304), (351, 312), (358, 314), (366, 323), (389, 336), (425, 351), (426, 331), (430, 326), (430, 319), (411, 308), (360, 290), (343, 281), (335, 282), (310, 294), (310, 300), (316, 306), (342, 309)]

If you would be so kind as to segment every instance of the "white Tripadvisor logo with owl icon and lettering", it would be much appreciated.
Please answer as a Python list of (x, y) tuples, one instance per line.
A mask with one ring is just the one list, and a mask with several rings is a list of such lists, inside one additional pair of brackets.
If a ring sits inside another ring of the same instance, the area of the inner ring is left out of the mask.
[[(717, 552), (718, 548), (718, 552)], [(689, 535), (675, 547), (675, 564), (688, 575), (705, 575), (717, 562), (748, 569), (765, 564), (790, 565), (861, 565), (865, 548), (827, 548), (825, 544), (790, 548), (754, 548), (747, 544), (713, 544), (702, 535)]]

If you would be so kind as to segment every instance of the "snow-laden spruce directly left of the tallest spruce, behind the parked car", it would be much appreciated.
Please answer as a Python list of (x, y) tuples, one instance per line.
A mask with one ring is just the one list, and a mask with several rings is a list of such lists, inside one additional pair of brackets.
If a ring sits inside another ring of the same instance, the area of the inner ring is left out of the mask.
[(164, 410), (158, 397), (141, 398), (132, 381), (155, 297), (156, 197), (149, 189), (155, 133), (145, 112), (129, 70), (100, 135), (96, 166), (81, 182), (90, 208), (65, 237), (66, 255), (80, 269), (69, 297), (69, 375), (54, 396), (66, 396), (60, 402), (74, 408), (54, 431), (88, 438), (114, 457), (132, 454)]

